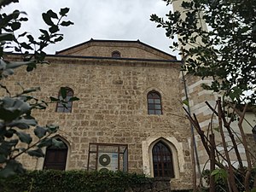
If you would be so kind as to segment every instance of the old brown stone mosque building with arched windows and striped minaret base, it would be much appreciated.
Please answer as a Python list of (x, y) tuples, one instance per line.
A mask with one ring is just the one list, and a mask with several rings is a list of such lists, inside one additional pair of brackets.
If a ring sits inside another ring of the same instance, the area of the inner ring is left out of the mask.
[[(19, 55), (12, 55), (19, 57)], [(44, 158), (21, 156), (28, 169), (122, 171), (171, 178), (172, 189), (192, 189), (191, 130), (183, 112), (185, 90), (201, 127), (212, 117), (205, 101), (217, 99), (195, 79), (180, 73), (181, 61), (137, 41), (95, 40), (63, 49), (31, 73), (19, 69), (6, 82), (9, 91), (39, 86), (37, 97), (60, 96), (77, 102), (50, 104), (33, 115), (39, 125), (59, 125), (63, 148), (45, 148)], [(184, 84), (185, 83), (185, 84)], [(255, 114), (248, 114), (255, 119)], [(252, 136), (251, 129), (245, 132)], [(195, 136), (199, 166), (208, 157)], [(241, 148), (242, 151), (242, 148)]]

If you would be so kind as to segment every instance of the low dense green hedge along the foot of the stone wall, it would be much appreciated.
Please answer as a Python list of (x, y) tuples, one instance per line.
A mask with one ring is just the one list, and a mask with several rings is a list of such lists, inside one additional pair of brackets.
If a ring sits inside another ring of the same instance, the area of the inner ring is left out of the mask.
[(122, 192), (152, 182), (152, 178), (136, 173), (44, 170), (0, 178), (0, 191)]

